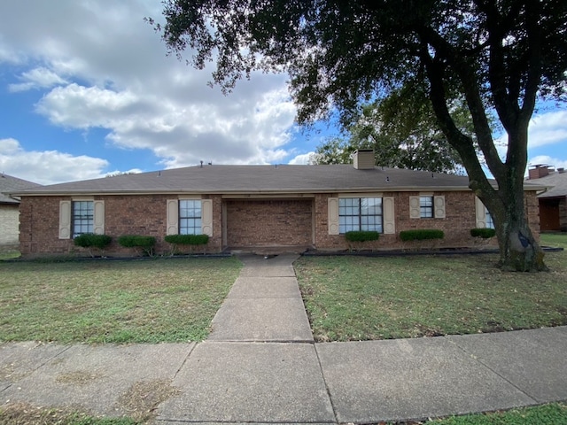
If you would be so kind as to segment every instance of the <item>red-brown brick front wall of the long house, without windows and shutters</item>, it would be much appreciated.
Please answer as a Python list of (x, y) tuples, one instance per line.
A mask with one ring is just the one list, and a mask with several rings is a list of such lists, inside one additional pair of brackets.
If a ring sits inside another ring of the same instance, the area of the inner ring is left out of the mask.
[[(380, 235), (366, 248), (386, 250), (411, 248), (400, 241), (400, 231), (413, 228), (438, 228), (445, 238), (435, 247), (464, 247), (478, 243), (470, 236), (476, 227), (475, 197), (470, 191), (433, 192), (445, 197), (443, 219), (411, 219), (409, 197), (419, 192), (384, 192), (394, 200), (395, 234)], [(329, 235), (329, 197), (337, 194), (315, 194), (301, 199), (223, 199), (220, 195), (205, 196), (213, 201), (213, 236), (206, 251), (219, 252), (227, 247), (314, 246), (320, 250), (349, 247), (343, 235)], [(155, 236), (155, 251), (172, 250), (164, 241), (167, 231), (167, 199), (172, 195), (98, 196), (105, 201), (105, 235), (113, 237), (106, 252), (109, 255), (132, 255), (135, 252), (120, 247), (116, 240), (122, 235)], [(20, 204), (20, 251), (24, 256), (63, 254), (82, 251), (72, 239), (59, 239), (59, 202), (71, 197), (22, 197)], [(526, 211), (530, 226), (539, 236), (539, 209), (535, 192), (526, 193)], [(430, 242), (431, 243), (431, 242)]]

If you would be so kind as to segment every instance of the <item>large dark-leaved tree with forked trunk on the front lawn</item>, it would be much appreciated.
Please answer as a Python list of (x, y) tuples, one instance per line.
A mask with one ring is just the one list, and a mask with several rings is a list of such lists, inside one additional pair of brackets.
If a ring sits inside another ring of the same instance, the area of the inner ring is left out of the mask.
[[(538, 97), (564, 99), (564, 0), (166, 0), (167, 47), (225, 90), (254, 70), (286, 72), (299, 123), (335, 108), (352, 122), (361, 104), (414, 81), (459, 153), (470, 188), (493, 216), (503, 267), (544, 269), (524, 212), (527, 128)], [(464, 99), (478, 149), (456, 125)], [(500, 158), (489, 123), (508, 133)]]

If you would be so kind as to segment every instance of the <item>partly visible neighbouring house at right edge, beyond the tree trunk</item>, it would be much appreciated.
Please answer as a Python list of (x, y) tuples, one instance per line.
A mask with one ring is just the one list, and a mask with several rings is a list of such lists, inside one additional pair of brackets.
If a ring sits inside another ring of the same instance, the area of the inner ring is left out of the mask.
[(541, 231), (567, 232), (567, 173), (563, 168), (537, 165), (530, 168), (528, 182), (548, 186), (538, 195)]

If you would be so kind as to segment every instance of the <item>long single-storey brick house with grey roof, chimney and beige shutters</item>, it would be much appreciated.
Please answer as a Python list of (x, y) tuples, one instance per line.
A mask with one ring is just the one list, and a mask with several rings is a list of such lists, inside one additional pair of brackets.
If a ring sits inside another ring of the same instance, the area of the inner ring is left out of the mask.
[[(439, 247), (475, 243), (471, 228), (487, 227), (485, 206), (466, 176), (374, 166), (372, 151), (354, 164), (332, 166), (190, 166), (69, 182), (21, 191), (23, 255), (74, 251), (74, 235), (113, 237), (110, 254), (128, 254), (122, 235), (210, 236), (206, 251), (344, 250), (348, 230), (377, 230), (377, 250), (408, 247), (400, 231), (438, 228)], [(536, 190), (526, 189), (527, 213), (540, 230)], [(488, 217), (489, 219), (489, 217)]]

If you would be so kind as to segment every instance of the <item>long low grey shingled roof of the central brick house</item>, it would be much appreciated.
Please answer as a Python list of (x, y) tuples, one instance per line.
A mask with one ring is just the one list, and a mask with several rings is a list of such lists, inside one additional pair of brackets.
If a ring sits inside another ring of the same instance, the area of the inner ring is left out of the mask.
[[(543, 189), (526, 184), (526, 189)], [(189, 166), (142, 174), (68, 182), (19, 190), (14, 195), (155, 193), (322, 193), (403, 190), (468, 190), (469, 178), (397, 168), (357, 170), (329, 166)]]

